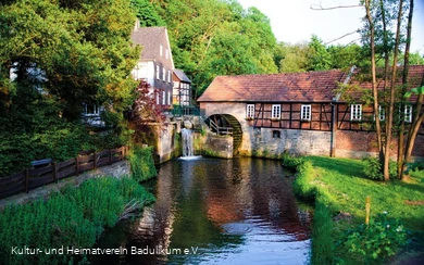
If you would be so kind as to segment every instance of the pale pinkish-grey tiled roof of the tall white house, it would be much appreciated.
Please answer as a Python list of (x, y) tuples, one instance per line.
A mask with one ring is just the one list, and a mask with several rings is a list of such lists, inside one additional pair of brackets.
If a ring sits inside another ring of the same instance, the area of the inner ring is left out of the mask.
[(132, 33), (132, 40), (135, 45), (141, 46), (141, 60), (155, 60), (160, 58), (160, 45), (163, 48), (167, 48), (172, 67), (174, 68), (166, 27), (136, 27)]

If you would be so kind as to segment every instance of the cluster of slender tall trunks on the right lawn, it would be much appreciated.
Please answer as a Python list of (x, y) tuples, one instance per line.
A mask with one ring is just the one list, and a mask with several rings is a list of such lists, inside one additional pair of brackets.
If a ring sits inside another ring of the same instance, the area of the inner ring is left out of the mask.
[[(395, 115), (395, 105), (399, 104), (400, 110), (403, 110), (404, 102), (398, 101), (396, 99), (397, 93), (404, 94), (408, 88), (408, 71), (409, 71), (409, 50), (410, 50), (410, 39), (411, 39), (411, 29), (412, 29), (412, 14), (413, 14), (413, 0), (410, 1), (390, 1), (390, 0), (365, 0), (365, 10), (366, 10), (366, 30), (369, 35), (366, 36), (367, 45), (371, 48), (371, 61), (372, 61), (372, 78), (373, 78), (373, 96), (374, 96), (374, 111), (376, 116), (378, 116), (378, 104), (385, 105), (385, 111), (387, 113), (387, 121), (385, 122), (384, 128), (378, 127), (379, 121), (376, 118), (377, 127), (377, 141), (381, 150), (381, 159), (383, 163), (383, 173), (385, 180), (389, 179), (389, 157), (390, 157), (390, 144), (394, 132), (399, 132), (398, 139), (398, 176), (402, 178), (403, 166), (407, 161), (410, 160), (412, 153), (413, 142), (415, 140), (417, 129), (421, 126), (421, 105), (420, 98), (417, 97), (416, 109), (419, 113), (414, 115), (414, 124), (411, 126), (410, 131), (406, 130), (404, 118), (402, 114), (399, 119), (399, 127), (396, 127), (396, 115)], [(409, 12), (408, 12), (409, 11)], [(408, 14), (408, 15), (406, 15)], [(404, 21), (407, 17), (407, 25)], [(396, 33), (391, 33), (390, 28), (392, 24), (396, 24)], [(401, 33), (407, 33), (407, 36), (402, 36)], [(404, 40), (406, 39), (406, 42)], [(402, 66), (402, 86), (399, 88), (396, 86), (398, 79), (397, 70), (398, 61), (400, 55), (400, 49), (404, 46), (403, 66)], [(375, 80), (376, 80), (376, 63), (375, 58), (377, 52), (381, 52), (382, 58), (384, 58), (384, 91), (381, 93), (382, 97), (377, 94)], [(391, 63), (391, 66), (389, 64)], [(383, 100), (381, 100), (381, 98)], [(422, 100), (422, 98), (421, 98)], [(402, 113), (402, 112), (401, 112)], [(416, 127), (417, 126), (417, 127)], [(407, 152), (404, 152), (404, 137), (408, 136), (407, 140)]]

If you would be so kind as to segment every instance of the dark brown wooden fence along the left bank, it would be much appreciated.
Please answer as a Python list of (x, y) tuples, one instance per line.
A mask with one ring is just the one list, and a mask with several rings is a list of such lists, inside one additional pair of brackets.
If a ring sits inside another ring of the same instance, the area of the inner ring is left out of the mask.
[(104, 150), (101, 152), (80, 152), (75, 159), (65, 162), (51, 163), (40, 168), (26, 168), (12, 176), (0, 178), (0, 199), (55, 182), (70, 176), (97, 169), (123, 161), (128, 153), (128, 147)]

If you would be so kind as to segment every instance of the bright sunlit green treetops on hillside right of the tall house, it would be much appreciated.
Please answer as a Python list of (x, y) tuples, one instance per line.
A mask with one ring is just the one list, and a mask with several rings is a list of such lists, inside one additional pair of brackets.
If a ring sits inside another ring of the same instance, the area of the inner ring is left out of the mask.
[(165, 20), (176, 67), (200, 94), (216, 75), (276, 73), (270, 20), (237, 1), (153, 0)]

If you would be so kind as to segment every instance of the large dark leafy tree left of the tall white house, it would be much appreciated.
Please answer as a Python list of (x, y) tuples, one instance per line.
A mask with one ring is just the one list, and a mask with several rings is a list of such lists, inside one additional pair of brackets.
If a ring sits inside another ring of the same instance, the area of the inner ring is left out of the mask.
[[(10, 173), (10, 165), (34, 159), (58, 161), (87, 147), (123, 143), (123, 112), (137, 86), (128, 78), (139, 54), (129, 40), (134, 21), (129, 0), (2, 1), (1, 168)], [(107, 108), (112, 141), (82, 129), (83, 102)]]

